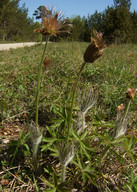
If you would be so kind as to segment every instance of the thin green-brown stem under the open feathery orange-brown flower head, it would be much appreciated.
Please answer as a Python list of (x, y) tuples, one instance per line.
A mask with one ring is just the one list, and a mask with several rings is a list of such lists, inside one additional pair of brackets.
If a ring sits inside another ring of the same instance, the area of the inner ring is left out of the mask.
[(43, 64), (43, 60), (44, 60), (44, 55), (47, 49), (47, 44), (49, 41), (50, 36), (47, 36), (46, 38), (46, 43), (44, 46), (44, 50), (43, 50), (43, 54), (41, 57), (41, 62), (39, 65), (39, 70), (38, 70), (38, 77), (37, 77), (37, 91), (36, 91), (36, 118), (35, 118), (35, 123), (36, 125), (38, 125), (38, 118), (39, 118), (39, 90), (40, 90), (40, 80), (41, 80), (41, 73), (42, 73), (42, 64)]

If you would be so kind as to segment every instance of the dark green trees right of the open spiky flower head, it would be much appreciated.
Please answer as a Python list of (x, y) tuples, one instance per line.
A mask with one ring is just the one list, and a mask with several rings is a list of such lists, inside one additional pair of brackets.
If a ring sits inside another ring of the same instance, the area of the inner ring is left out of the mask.
[(88, 17), (75, 16), (71, 37), (74, 40), (89, 41), (92, 29), (104, 33), (107, 43), (137, 42), (137, 12), (130, 11), (130, 0), (114, 0), (114, 5), (103, 12), (95, 11)]

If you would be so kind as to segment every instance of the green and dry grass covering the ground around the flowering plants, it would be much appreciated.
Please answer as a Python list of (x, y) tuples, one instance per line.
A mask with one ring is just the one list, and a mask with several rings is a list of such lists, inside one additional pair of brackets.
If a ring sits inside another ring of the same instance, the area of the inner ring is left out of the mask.
[[(45, 129), (46, 125), (53, 126), (52, 129), (54, 129), (55, 127), (53, 119), (56, 119), (56, 126), (59, 124), (59, 109), (61, 109), (62, 103), (65, 102), (65, 97), (76, 79), (77, 72), (81, 67), (80, 64), (83, 62), (83, 54), (87, 46), (88, 43), (82, 42), (59, 42), (48, 44), (46, 56), (52, 60), (52, 64), (48, 68), (43, 66), (42, 84), (40, 87), (41, 91), (39, 96), (39, 124), (43, 127), (43, 129)], [(26, 124), (29, 120), (35, 119), (33, 108), (35, 107), (34, 102), (36, 94), (37, 71), (43, 47), (44, 45), (35, 45), (33, 47), (25, 47), (16, 50), (0, 52), (0, 120), (2, 123), (7, 121), (14, 122), (18, 119), (20, 122)], [(113, 128), (114, 126), (117, 106), (121, 103), (126, 104), (125, 93), (127, 88), (137, 88), (136, 58), (137, 45), (111, 45), (106, 48), (101, 59), (97, 60), (93, 64), (87, 64), (81, 75), (79, 89), (87, 87), (91, 89), (94, 87), (99, 90), (98, 103), (93, 110), (89, 112), (88, 116), (86, 117), (86, 121), (93, 127), (97, 126), (99, 131), (100, 127), (102, 127), (105, 130), (104, 135), (108, 134), (107, 129), (110, 127)], [(137, 129), (136, 103), (137, 97), (135, 97), (135, 99), (132, 101), (129, 113), (128, 131), (130, 132), (130, 135), (135, 134)], [(52, 134), (50, 129), (46, 132), (46, 134), (49, 133), (50, 135)], [(98, 135), (98, 137), (100, 137), (100, 135)], [(127, 139), (127, 146), (128, 142), (132, 142), (130, 139), (132, 139), (132, 137)], [(25, 151), (26, 148), (25, 154), (28, 155), (28, 153), (31, 153), (28, 149), (29, 144), (26, 145), (24, 140), (23, 142), (22, 140), (23, 138), (21, 136), (20, 142), (18, 141), (18, 143), (20, 143), (19, 147), (22, 151)], [(52, 142), (52, 139), (50, 142)], [(14, 143), (15, 151), (18, 149), (16, 148), (18, 143)], [(100, 150), (101, 149), (99, 149), (99, 151)], [(55, 150), (53, 153), (55, 155)], [(115, 153), (117, 153), (117, 151), (115, 151)], [(57, 160), (51, 157), (45, 157), (46, 153), (44, 152), (42, 154), (40, 156), (43, 166), (46, 167), (46, 174), (51, 175), (51, 173), (49, 173), (49, 170), (52, 172), (50, 164), (53, 164), (54, 169), (56, 169), (53, 162), (57, 162)], [(44, 162), (42, 156), (47, 159), (47, 162)], [(79, 158), (77, 157), (77, 160), (78, 159)], [(94, 159), (92, 160), (94, 162)], [(109, 161), (110, 160), (108, 160), (108, 162)], [(127, 171), (127, 174), (130, 173), (131, 170), (128, 169), (128, 166), (132, 163), (129, 158), (122, 159), (121, 157), (120, 161), (128, 162), (125, 170)], [(2, 178), (8, 178), (8, 180), (11, 180), (12, 174), (10, 168), (8, 167), (8, 160), (6, 160), (6, 157), (2, 157), (1, 163), (2, 167), (7, 167), (8, 169)], [(14, 174), (19, 174), (23, 182), (28, 182), (28, 180), (31, 179), (31, 182), (32, 180), (35, 181), (35, 186), (37, 186), (36, 182), (38, 182), (38, 185), (40, 186), (40, 181), (36, 181), (34, 176), (31, 174), (31, 166), (29, 163), (30, 160), (27, 160), (26, 165), (22, 170), (22, 172), (24, 172), (28, 178), (25, 178), (25, 176), (21, 175), (23, 173), (20, 173), (19, 167), (18, 170), (15, 170)], [(77, 169), (78, 164), (79, 160), (77, 163), (75, 162)], [(118, 166), (117, 164), (118, 162), (116, 161), (115, 171)], [(105, 170), (106, 164), (103, 168), (101, 168), (102, 174), (109, 175), (110, 173), (115, 172), (112, 170), (111, 161), (109, 162), (109, 165), (110, 166), (106, 167), (107, 173)], [(14, 166), (19, 166), (19, 163), (15, 161)], [(73, 170), (74, 165), (71, 166)], [(27, 167), (29, 167), (29, 171), (27, 171)], [(135, 166), (133, 166), (133, 168), (135, 173)], [(82, 171), (84, 172), (84, 170), (86, 170), (86, 165), (81, 163), (80, 169), (83, 169)], [(71, 173), (69, 174), (71, 175)], [(88, 173), (85, 172), (85, 176), (82, 177), (82, 179), (84, 178), (83, 183), (85, 182), (87, 174)], [(110, 175), (114, 174), (117, 175), (116, 173)], [(55, 178), (56, 175), (53, 174), (53, 180), (57, 180), (55, 183), (58, 183), (58, 177), (56, 179)], [(82, 179), (80, 179), (81, 182)], [(111, 178), (111, 176), (108, 179), (109, 187), (112, 185), (112, 179), (113, 178)], [(123, 179), (122, 176), (120, 179)], [(16, 181), (16, 185), (18, 185), (18, 182), (19, 181)], [(45, 182), (47, 184), (47, 181)], [(84, 191), (85, 184), (82, 186)], [(30, 184), (30, 188), (31, 187), (32, 185)], [(38, 188), (38, 186), (36, 188)], [(32, 188), (30, 191), (32, 191)]]

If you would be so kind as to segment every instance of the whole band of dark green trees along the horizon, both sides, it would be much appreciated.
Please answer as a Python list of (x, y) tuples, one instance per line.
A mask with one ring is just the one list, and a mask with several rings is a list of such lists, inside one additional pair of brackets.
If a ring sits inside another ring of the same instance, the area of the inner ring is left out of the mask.
[[(33, 33), (35, 28), (40, 27), (40, 23), (28, 18), (28, 9), (25, 5), (20, 8), (19, 1), (0, 1), (0, 40), (40, 41), (40, 34)], [(71, 34), (63, 34), (52, 40), (90, 41), (92, 31), (95, 29), (104, 33), (107, 43), (136, 43), (137, 12), (130, 11), (131, 0), (113, 0), (113, 2), (113, 6), (108, 6), (103, 12), (95, 11), (87, 17), (77, 15), (67, 18), (68, 22), (73, 24)]]

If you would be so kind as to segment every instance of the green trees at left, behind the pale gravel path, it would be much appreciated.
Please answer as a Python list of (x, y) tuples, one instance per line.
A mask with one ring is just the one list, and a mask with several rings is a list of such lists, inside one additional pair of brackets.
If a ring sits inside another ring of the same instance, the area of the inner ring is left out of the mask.
[(19, 7), (20, 0), (0, 0), (0, 41), (39, 41), (40, 35), (33, 30), (40, 26), (28, 18), (25, 4)]

